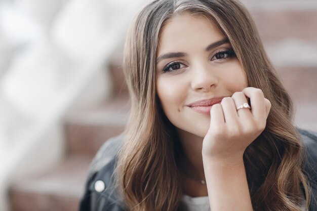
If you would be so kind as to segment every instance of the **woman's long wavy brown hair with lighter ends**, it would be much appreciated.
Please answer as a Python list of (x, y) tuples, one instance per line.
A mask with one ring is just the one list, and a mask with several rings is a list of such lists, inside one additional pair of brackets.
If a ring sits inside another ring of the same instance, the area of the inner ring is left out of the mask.
[[(233, 0), (156, 0), (135, 18), (126, 40), (124, 72), (131, 96), (125, 144), (117, 163), (118, 184), (130, 210), (179, 210), (175, 127), (155, 91), (160, 30), (175, 14), (203, 15), (217, 24), (242, 64), (249, 87), (263, 91), (272, 106), (262, 134), (244, 161), (255, 210), (302, 210), (309, 186), (301, 171), (302, 140), (293, 125), (293, 104), (267, 58), (246, 9)], [(302, 188), (301, 188), (302, 187)]]

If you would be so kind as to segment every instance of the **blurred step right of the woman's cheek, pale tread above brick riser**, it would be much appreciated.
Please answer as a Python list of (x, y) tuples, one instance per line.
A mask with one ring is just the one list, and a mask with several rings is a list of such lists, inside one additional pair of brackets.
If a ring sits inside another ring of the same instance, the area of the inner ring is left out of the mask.
[(294, 101), (317, 101), (317, 40), (285, 39), (264, 46)]

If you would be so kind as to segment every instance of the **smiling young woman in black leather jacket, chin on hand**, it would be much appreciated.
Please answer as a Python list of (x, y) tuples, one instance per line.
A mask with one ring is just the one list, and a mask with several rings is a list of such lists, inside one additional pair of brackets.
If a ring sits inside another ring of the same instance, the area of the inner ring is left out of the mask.
[(81, 210), (317, 210), (317, 137), (294, 127), (239, 2), (150, 3), (124, 71), (130, 120), (94, 159)]

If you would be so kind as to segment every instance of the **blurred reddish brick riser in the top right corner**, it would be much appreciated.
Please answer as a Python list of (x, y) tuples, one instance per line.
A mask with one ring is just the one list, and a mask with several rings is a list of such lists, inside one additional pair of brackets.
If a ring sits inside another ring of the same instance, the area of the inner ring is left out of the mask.
[(317, 2), (315, 0), (242, 1), (250, 11), (263, 40), (285, 37), (315, 40)]

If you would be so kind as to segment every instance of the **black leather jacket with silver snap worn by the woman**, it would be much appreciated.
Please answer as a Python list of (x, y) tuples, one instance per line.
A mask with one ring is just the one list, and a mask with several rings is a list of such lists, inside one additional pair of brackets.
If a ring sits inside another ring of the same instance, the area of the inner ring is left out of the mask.
[[(309, 211), (317, 211), (317, 133), (299, 130), (306, 150), (307, 162), (304, 172), (311, 185)], [(109, 139), (93, 159), (86, 190), (81, 199), (80, 211), (126, 211), (124, 202), (114, 187), (116, 155), (122, 145), (123, 136)]]

